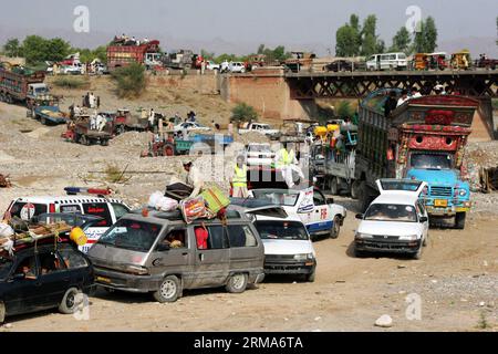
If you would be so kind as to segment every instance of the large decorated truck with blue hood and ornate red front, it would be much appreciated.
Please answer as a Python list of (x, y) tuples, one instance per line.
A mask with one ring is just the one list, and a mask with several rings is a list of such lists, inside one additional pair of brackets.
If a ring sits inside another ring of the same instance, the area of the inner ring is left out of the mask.
[(427, 183), (421, 199), (430, 217), (454, 218), (465, 227), (470, 191), (464, 181), (464, 149), (471, 129), (476, 100), (458, 95), (412, 98), (388, 117), (384, 102), (390, 88), (373, 92), (359, 110), (355, 180), (362, 209), (378, 195), (378, 178)]

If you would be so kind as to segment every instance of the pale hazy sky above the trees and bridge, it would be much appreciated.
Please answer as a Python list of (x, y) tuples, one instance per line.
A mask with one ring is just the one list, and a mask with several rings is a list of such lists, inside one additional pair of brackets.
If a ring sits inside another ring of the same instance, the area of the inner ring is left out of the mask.
[[(87, 34), (73, 30), (76, 6), (90, 10)], [(17, 0), (2, 1), (0, 40), (2, 31), (3, 37), (59, 33), (93, 46), (124, 32), (174, 43), (187, 40), (219, 46), (227, 42), (237, 50), (240, 43), (287, 43), (333, 51), (335, 30), (351, 13), (361, 20), (376, 14), (378, 34), (390, 45), (408, 20), (408, 6), (417, 6), (423, 18), (435, 18), (439, 42), (487, 38), (486, 43), (492, 43), (497, 37), (496, 0)], [(496, 45), (490, 48), (495, 50)]]

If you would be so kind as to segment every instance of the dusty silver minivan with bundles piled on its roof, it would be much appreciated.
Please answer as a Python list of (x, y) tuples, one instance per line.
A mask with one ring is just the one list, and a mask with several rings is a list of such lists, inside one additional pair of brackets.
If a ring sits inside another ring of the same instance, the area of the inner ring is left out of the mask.
[(226, 222), (151, 211), (128, 214), (89, 251), (95, 282), (104, 288), (152, 292), (158, 302), (174, 302), (184, 289), (225, 287), (243, 292), (264, 279), (264, 249), (251, 221), (238, 211)]

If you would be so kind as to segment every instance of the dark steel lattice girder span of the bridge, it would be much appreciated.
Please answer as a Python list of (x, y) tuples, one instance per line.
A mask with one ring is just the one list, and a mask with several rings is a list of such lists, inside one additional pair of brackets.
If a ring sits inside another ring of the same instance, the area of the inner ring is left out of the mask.
[(287, 72), (283, 76), (291, 100), (362, 98), (383, 87), (417, 87), (427, 95), (434, 93), (436, 84), (444, 85), (448, 94), (498, 97), (498, 70)]

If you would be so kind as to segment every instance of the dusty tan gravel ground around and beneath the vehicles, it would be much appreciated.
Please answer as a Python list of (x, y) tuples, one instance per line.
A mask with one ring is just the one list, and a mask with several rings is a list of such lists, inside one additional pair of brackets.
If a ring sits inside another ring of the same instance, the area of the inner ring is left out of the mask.
[[(68, 185), (111, 186), (129, 205), (139, 206), (181, 170), (181, 158), (138, 157), (146, 134), (128, 133), (108, 147), (74, 145), (59, 137), (63, 126), (42, 127), (25, 118), (24, 108), (4, 104), (0, 124), (0, 173), (10, 175), (14, 185), (0, 189), (1, 211), (14, 197), (61, 195)], [(108, 166), (121, 170), (127, 166), (132, 173), (125, 174), (127, 183), (111, 183), (103, 173)], [(220, 170), (212, 177), (226, 187)], [(353, 258), (355, 206), (349, 198), (336, 200), (349, 209), (349, 217), (339, 239), (315, 242), (314, 283), (270, 278), (239, 295), (222, 289), (186, 291), (174, 304), (98, 291), (91, 298), (89, 321), (49, 311), (8, 319), (9, 325), (0, 331), (477, 331), (479, 324), (498, 330), (496, 194), (474, 195), (476, 207), (465, 230), (432, 229), (418, 261)], [(405, 315), (412, 293), (422, 300), (419, 321)], [(373, 325), (382, 314), (393, 317), (392, 329)]]

